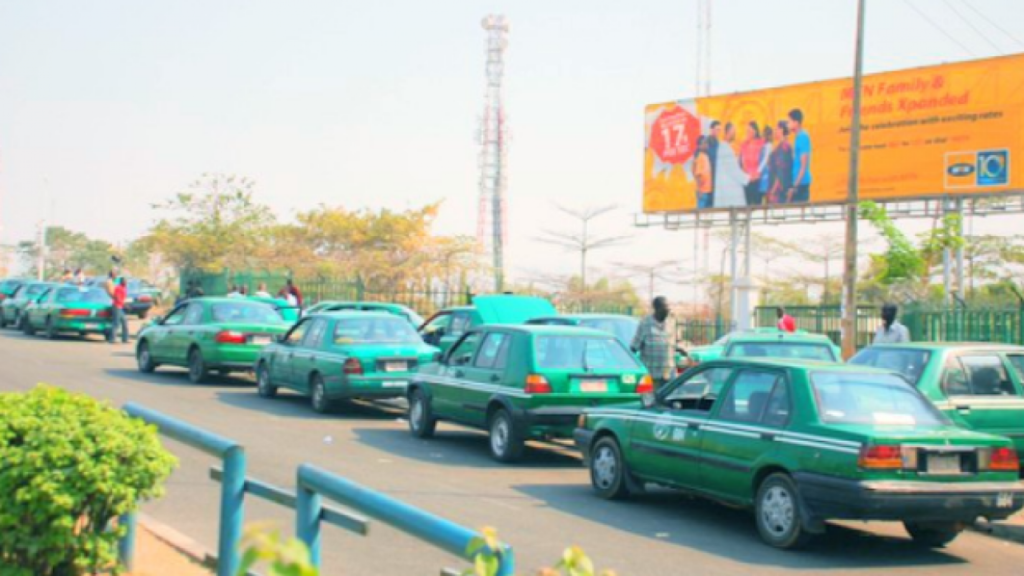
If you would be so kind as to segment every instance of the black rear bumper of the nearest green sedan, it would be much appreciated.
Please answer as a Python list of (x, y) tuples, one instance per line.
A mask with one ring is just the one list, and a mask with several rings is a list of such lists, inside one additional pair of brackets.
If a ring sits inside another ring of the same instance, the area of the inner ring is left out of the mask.
[(795, 474), (809, 516), (821, 520), (973, 522), (1024, 507), (1020, 482), (854, 481)]

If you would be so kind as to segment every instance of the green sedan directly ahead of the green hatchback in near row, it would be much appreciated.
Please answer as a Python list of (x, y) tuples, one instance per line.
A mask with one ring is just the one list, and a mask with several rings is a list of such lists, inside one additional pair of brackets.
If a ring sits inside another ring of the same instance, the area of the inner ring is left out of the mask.
[(339, 400), (404, 397), (413, 373), (436, 355), (412, 324), (392, 314), (307, 315), (260, 353), (257, 389), (273, 398), (279, 386), (291, 388), (326, 413)]

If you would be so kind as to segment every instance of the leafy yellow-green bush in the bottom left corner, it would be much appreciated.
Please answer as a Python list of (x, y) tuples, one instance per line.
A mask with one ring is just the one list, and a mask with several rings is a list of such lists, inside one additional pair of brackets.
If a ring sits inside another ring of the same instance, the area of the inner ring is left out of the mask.
[(0, 394), (0, 576), (116, 573), (111, 521), (162, 493), (154, 426), (84, 395)]

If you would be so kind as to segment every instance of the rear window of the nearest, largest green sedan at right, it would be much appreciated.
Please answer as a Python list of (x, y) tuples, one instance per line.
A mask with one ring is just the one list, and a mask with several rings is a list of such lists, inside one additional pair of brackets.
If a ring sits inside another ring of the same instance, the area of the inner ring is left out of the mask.
[(816, 372), (811, 386), (827, 424), (937, 427), (948, 420), (902, 378), (892, 374)]

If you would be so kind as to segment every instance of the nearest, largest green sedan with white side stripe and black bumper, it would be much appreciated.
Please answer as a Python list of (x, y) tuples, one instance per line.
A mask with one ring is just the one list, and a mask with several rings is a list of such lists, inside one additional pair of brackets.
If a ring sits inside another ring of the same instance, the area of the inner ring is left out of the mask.
[(956, 426), (872, 368), (713, 361), (581, 420), (577, 445), (600, 496), (651, 483), (753, 508), (762, 539), (780, 548), (840, 519), (901, 521), (919, 543), (942, 546), (978, 517), (1024, 507), (1009, 440)]

